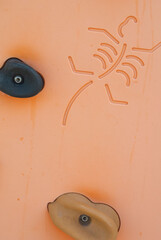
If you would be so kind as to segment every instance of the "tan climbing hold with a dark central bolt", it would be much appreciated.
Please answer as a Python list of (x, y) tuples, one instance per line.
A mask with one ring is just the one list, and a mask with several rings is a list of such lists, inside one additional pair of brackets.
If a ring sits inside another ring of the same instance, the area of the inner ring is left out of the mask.
[(65, 193), (48, 203), (53, 223), (76, 240), (116, 240), (120, 217), (109, 205), (79, 193)]

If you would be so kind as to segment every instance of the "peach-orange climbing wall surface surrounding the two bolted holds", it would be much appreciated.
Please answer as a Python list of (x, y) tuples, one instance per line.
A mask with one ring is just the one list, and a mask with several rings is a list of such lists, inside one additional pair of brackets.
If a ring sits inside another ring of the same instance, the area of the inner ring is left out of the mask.
[(71, 239), (46, 208), (70, 191), (119, 212), (118, 240), (161, 239), (160, 0), (0, 5), (0, 64), (45, 78), (31, 99), (0, 92), (0, 239)]

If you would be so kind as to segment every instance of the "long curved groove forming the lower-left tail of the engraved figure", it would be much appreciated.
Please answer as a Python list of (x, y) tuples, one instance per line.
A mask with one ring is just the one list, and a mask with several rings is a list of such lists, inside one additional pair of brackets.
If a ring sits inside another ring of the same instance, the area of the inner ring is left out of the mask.
[(77, 99), (77, 97), (88, 87), (90, 86), (91, 84), (93, 83), (93, 81), (89, 81), (87, 82), (85, 85), (83, 85), (75, 94), (74, 96), (71, 98), (71, 100), (69, 101), (68, 105), (67, 105), (67, 108), (65, 110), (65, 113), (64, 113), (64, 117), (63, 117), (63, 125), (66, 125), (66, 122), (67, 122), (67, 118), (68, 118), (68, 115), (69, 115), (69, 111), (74, 103), (74, 101)]

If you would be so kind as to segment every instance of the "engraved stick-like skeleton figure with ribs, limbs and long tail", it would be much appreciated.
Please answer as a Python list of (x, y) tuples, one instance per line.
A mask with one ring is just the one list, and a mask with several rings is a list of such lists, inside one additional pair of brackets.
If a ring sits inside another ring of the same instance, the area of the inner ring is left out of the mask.
[[(125, 25), (128, 24), (129, 21), (133, 21), (134, 23), (137, 23), (137, 18), (134, 17), (134, 16), (128, 16), (118, 26), (118, 35), (122, 39), (124, 37), (123, 28), (125, 27)], [(159, 42), (158, 44), (156, 44), (154, 47), (152, 47), (150, 49), (148, 49), (148, 48), (132, 47), (131, 48), (131, 52), (132, 53), (131, 54), (127, 54), (126, 53), (127, 52), (127, 43), (120, 43), (120, 41), (116, 37), (114, 37), (110, 32), (108, 32), (106, 29), (89, 27), (88, 30), (91, 31), (91, 32), (95, 32), (95, 33), (105, 34), (108, 37), (109, 41), (110, 41), (110, 43), (109, 42), (102, 42), (102, 43), (100, 43), (101, 47), (97, 49), (98, 53), (93, 54), (93, 57), (97, 58), (101, 62), (102, 68), (103, 68), (103, 73), (101, 73), (98, 76), (98, 78), (102, 79), (102, 78), (105, 78), (110, 73), (116, 72), (117, 74), (121, 74), (121, 75), (124, 76), (127, 87), (129, 87), (131, 85), (131, 78), (130, 78), (129, 74), (125, 71), (126, 68), (130, 68), (132, 70), (132, 73), (133, 73), (132, 78), (133, 79), (137, 79), (137, 76), (138, 76), (137, 68), (131, 62), (133, 62), (133, 61), (137, 62), (141, 67), (143, 67), (145, 65), (144, 61), (139, 56), (135, 55), (133, 52), (153, 53), (159, 47), (161, 47), (161, 42)], [(120, 53), (118, 52), (117, 48), (114, 47), (111, 44), (111, 42), (116, 44), (117, 46), (122, 44), (122, 48), (121, 48)], [(107, 49), (109, 50), (110, 53), (107, 52)], [(105, 56), (106, 58), (104, 59), (103, 56)], [(108, 62), (110, 64), (109, 68), (107, 68), (107, 60), (108, 60)], [(71, 56), (68, 56), (68, 61), (69, 61), (69, 64), (71, 66), (71, 69), (72, 69), (72, 71), (74, 73), (84, 74), (84, 75), (89, 75), (89, 76), (94, 75), (94, 72), (92, 72), (92, 71), (78, 70), (76, 68), (74, 60), (73, 60), (73, 58)], [(123, 70), (120, 69), (120, 68), (123, 68)], [(65, 110), (64, 116), (63, 116), (63, 125), (66, 125), (68, 114), (70, 112), (70, 109), (71, 109), (74, 101), (91, 84), (93, 84), (93, 81), (92, 80), (88, 81), (71, 98), (71, 100), (69, 101), (69, 103), (67, 105), (67, 108)], [(127, 101), (118, 100), (118, 99), (114, 99), (113, 98), (113, 95), (112, 95), (112, 92), (111, 92), (111, 89), (110, 89), (108, 83), (105, 84), (105, 89), (106, 89), (109, 101), (112, 104), (128, 105)]]

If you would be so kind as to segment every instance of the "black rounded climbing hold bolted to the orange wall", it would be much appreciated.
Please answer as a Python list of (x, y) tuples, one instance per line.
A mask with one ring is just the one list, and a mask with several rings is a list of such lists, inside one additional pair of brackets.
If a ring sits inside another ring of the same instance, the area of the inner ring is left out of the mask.
[(18, 58), (7, 59), (0, 69), (0, 91), (12, 97), (33, 97), (43, 87), (41, 74)]

